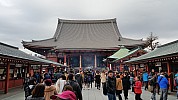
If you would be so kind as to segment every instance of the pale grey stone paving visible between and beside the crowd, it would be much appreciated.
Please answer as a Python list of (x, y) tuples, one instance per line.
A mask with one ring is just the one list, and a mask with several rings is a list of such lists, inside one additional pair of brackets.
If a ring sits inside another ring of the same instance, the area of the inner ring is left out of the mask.
[[(95, 87), (93, 87), (90, 90), (83, 90), (82, 94), (83, 94), (83, 100), (107, 100), (108, 99), (107, 96), (102, 94), (102, 90), (97, 90)], [(160, 95), (157, 95), (157, 100), (159, 100), (159, 96)], [(134, 100), (134, 97), (135, 97), (134, 93), (129, 91), (129, 100)], [(150, 100), (151, 93), (143, 90), (141, 97), (143, 100)], [(18, 88), (18, 89), (10, 90), (8, 94), (0, 94), (0, 100), (24, 100), (23, 89)], [(178, 99), (176, 99), (175, 95), (169, 95), (168, 100), (178, 100)]]

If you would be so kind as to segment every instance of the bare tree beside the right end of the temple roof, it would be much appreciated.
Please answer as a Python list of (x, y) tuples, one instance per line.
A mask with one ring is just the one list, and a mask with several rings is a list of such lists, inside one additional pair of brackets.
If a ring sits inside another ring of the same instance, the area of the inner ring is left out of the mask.
[(159, 45), (159, 42), (156, 42), (156, 40), (158, 40), (158, 36), (154, 36), (151, 32), (150, 36), (146, 39), (146, 45), (149, 50), (152, 51)]

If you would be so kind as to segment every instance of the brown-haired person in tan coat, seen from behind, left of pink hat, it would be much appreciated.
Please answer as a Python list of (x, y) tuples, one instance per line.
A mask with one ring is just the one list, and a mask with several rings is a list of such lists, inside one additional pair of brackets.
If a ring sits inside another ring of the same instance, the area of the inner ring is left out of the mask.
[(45, 85), (46, 85), (44, 91), (45, 100), (50, 100), (50, 96), (57, 94), (56, 87), (52, 85), (51, 79), (45, 80)]

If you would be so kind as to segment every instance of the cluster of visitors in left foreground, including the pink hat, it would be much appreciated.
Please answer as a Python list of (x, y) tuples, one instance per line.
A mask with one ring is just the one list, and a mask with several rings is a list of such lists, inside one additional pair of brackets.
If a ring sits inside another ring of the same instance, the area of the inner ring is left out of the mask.
[[(26, 100), (82, 100), (82, 75), (80, 73), (60, 74), (54, 81), (49, 73), (40, 76), (35, 73), (25, 79)], [(38, 76), (38, 77), (36, 77)], [(37, 81), (37, 78), (40, 78)]]

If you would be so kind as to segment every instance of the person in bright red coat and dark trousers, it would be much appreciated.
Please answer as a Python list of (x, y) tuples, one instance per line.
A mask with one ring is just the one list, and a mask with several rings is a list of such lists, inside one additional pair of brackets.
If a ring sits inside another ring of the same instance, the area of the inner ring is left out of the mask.
[(135, 92), (135, 100), (142, 100), (142, 82), (139, 80), (138, 77), (135, 77), (135, 85), (134, 85), (134, 92)]

